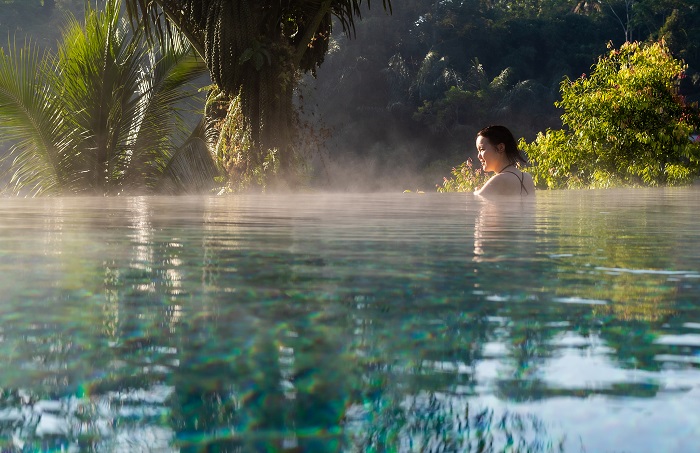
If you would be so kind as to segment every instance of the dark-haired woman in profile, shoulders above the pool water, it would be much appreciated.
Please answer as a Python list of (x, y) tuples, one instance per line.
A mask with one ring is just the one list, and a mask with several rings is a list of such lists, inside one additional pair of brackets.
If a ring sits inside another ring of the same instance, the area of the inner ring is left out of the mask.
[(518, 169), (518, 163), (526, 163), (518, 151), (515, 137), (504, 126), (488, 126), (476, 134), (476, 150), (485, 172), (496, 173), (486, 181), (476, 195), (534, 195), (532, 176)]

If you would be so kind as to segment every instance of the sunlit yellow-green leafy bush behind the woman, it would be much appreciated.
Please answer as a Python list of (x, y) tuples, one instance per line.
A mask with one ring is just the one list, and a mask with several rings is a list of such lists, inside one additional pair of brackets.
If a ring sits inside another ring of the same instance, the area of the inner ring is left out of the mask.
[(521, 142), (539, 187), (682, 185), (700, 171), (697, 104), (678, 94), (685, 66), (663, 43), (610, 49), (561, 84), (564, 130)]

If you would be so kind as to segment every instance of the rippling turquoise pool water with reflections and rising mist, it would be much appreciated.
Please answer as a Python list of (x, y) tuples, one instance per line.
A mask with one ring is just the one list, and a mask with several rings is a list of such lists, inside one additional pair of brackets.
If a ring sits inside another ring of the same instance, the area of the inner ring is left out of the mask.
[(2, 451), (697, 451), (700, 189), (0, 200)]

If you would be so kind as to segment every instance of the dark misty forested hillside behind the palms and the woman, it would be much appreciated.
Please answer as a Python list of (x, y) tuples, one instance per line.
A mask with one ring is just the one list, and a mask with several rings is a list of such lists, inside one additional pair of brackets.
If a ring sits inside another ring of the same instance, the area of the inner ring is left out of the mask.
[[(0, 0), (0, 33), (50, 48), (84, 0)], [(561, 128), (564, 77), (588, 73), (607, 46), (660, 40), (687, 65), (681, 90), (700, 99), (697, 0), (381, 3), (355, 33), (336, 31), (299, 105), (312, 183), (337, 190), (434, 190), (475, 156), (478, 129), (503, 123), (530, 141)], [(336, 27), (339, 30), (340, 27)]]

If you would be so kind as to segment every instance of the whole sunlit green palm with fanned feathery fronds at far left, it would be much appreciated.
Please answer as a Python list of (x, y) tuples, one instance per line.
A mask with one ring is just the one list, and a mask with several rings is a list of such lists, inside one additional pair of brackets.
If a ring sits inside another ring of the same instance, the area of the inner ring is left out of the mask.
[(0, 132), (12, 143), (12, 190), (118, 194), (154, 187), (191, 131), (186, 101), (206, 68), (178, 34), (149, 47), (143, 31), (86, 3), (57, 53), (0, 50)]

